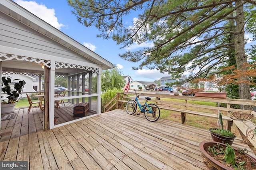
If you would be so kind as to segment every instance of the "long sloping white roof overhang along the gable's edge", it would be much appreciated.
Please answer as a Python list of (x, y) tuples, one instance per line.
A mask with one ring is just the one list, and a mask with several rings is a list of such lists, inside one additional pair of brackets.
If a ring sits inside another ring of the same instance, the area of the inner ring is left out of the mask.
[(41, 20), (34, 14), (28, 12), (28, 10), (22, 8), (12, 0), (1, 0), (0, 11), (8, 16), (11, 16), (15, 20), (20, 21), (24, 25), (38, 31), (46, 37), (58, 42), (59, 44), (71, 49), (78, 55), (81, 55), (93, 63), (100, 65), (102, 70), (114, 68), (114, 65), (109, 61), (86, 48), (84, 45), (78, 43), (71, 37), (68, 37), (68, 35), (62, 33), (60, 30), (54, 28), (52, 25)]

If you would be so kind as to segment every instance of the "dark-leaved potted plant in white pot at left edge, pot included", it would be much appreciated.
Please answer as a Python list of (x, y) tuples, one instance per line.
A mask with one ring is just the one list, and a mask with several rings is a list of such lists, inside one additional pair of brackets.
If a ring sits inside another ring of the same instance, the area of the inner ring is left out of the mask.
[[(19, 80), (19, 79), (15, 79)], [(12, 80), (9, 77), (2, 77), (2, 92), (6, 93), (8, 96), (8, 101), (2, 101), (1, 113), (11, 113), (14, 111), (14, 107), (16, 102), (20, 99), (21, 92), (23, 91), (24, 84), (26, 82), (24, 80), (20, 80), (14, 84), (14, 89), (11, 90), (10, 84)], [(2, 96), (3, 97), (3, 96)]]

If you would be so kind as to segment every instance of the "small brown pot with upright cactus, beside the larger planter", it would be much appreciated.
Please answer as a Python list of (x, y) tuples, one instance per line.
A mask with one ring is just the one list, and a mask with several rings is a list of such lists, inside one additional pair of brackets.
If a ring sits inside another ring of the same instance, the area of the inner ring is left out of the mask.
[(220, 120), (220, 128), (210, 128), (209, 131), (212, 136), (212, 140), (220, 143), (228, 143), (229, 145), (232, 145), (234, 139), (236, 136), (231, 133), (231, 131), (223, 129), (223, 121), (222, 121), (222, 114), (219, 113), (219, 120)]

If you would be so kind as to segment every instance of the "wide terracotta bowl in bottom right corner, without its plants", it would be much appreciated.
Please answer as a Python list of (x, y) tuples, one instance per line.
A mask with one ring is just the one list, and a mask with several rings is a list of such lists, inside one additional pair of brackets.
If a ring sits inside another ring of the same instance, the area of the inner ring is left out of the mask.
[[(208, 150), (208, 147), (212, 147), (216, 144), (220, 144), (222, 145), (224, 148), (226, 148), (226, 145), (224, 145), (223, 143), (218, 143), (218, 142), (213, 142), (213, 141), (203, 141), (199, 144), (199, 148), (202, 152), (202, 157), (203, 157), (203, 161), (206, 164), (206, 166), (210, 169), (210, 170), (233, 170), (232, 168), (218, 162), (217, 160), (215, 160), (212, 156), (210, 156), (206, 150)], [(238, 155), (239, 153), (237, 152), (237, 148), (232, 147), (235, 151), (235, 154)], [(249, 154), (244, 154), (244, 158), (247, 159), (247, 161), (252, 161), (255, 162), (256, 158), (250, 156)]]

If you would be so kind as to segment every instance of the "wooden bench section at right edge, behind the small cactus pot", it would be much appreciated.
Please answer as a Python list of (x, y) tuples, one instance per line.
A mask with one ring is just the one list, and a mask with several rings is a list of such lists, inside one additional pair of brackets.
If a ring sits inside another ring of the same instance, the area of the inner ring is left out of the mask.
[[(251, 134), (246, 134), (248, 132), (249, 127), (256, 127), (254, 123), (251, 121), (240, 121), (240, 120), (233, 120), (234, 124), (239, 130), (240, 135), (246, 141), (246, 144), (249, 146), (253, 146), (256, 148), (256, 138), (252, 138)], [(249, 136), (247, 136), (249, 135)]]

